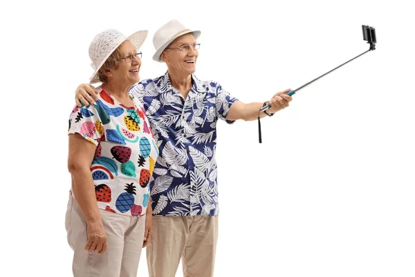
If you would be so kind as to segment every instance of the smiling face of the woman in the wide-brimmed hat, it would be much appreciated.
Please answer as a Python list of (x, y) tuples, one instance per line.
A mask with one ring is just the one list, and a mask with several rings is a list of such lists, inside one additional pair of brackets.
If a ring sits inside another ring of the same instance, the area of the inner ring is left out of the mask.
[[(136, 47), (128, 40), (119, 46), (121, 57), (127, 57), (137, 53)], [(140, 81), (141, 59), (134, 55), (133, 60), (125, 62), (124, 59), (118, 61), (118, 69), (111, 69), (109, 82), (116, 84), (128, 84), (130, 87)]]

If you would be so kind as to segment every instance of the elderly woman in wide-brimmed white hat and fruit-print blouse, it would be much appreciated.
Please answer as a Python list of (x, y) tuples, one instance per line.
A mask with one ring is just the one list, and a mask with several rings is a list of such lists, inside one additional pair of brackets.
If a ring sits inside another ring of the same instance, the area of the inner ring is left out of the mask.
[(158, 148), (141, 102), (129, 96), (145, 37), (146, 30), (128, 38), (106, 30), (89, 46), (91, 83), (102, 85), (95, 105), (75, 107), (69, 118), (66, 230), (74, 276), (136, 276), (149, 241), (148, 183)]

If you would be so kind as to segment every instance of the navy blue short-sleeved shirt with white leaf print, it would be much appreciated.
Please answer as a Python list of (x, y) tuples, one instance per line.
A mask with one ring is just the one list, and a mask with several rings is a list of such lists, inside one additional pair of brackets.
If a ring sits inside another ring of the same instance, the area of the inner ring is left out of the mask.
[(216, 123), (237, 99), (216, 82), (192, 80), (186, 99), (168, 73), (130, 89), (144, 104), (160, 151), (150, 180), (154, 215), (219, 214)]

